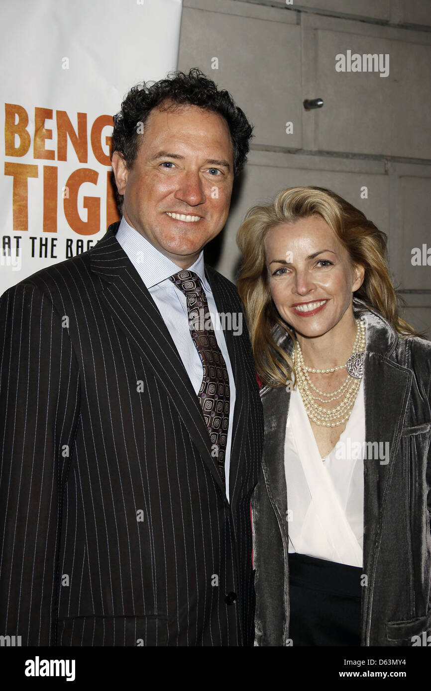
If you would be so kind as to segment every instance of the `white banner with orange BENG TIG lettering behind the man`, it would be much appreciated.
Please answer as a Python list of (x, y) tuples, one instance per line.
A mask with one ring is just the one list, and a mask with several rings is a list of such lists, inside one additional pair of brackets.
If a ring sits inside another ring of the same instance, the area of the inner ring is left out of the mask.
[(118, 219), (112, 115), (176, 68), (181, 0), (2, 0), (0, 294)]

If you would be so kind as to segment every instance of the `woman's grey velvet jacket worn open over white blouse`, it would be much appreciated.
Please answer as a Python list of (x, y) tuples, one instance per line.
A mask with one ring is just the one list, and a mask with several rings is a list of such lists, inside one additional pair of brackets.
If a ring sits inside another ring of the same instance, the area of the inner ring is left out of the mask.
[[(367, 587), (360, 645), (412, 645), (418, 640), (413, 636), (431, 633), (431, 343), (399, 338), (383, 316), (360, 301), (354, 301), (354, 310), (367, 316), (366, 441), (389, 442), (389, 462), (364, 461)], [(274, 335), (291, 351), (292, 341), (279, 326)], [(255, 645), (291, 645), (284, 474), (290, 394), (265, 386), (261, 397), (264, 457), (252, 499)]]

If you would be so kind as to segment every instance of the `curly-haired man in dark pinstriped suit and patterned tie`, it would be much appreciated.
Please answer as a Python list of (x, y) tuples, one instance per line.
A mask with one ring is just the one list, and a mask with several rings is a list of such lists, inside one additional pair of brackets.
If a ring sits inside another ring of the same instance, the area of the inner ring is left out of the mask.
[(253, 645), (262, 410), (221, 319), (239, 296), (203, 263), (250, 135), (199, 70), (133, 88), (122, 220), (1, 297), (0, 632), (22, 645)]

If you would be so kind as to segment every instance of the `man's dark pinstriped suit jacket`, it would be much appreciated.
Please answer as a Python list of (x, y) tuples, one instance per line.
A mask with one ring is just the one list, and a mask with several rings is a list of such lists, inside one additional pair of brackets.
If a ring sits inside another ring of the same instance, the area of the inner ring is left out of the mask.
[[(263, 421), (248, 335), (225, 333), (229, 504), (174, 334), (117, 229), (1, 296), (0, 634), (253, 645)], [(232, 283), (206, 271), (218, 310), (240, 312)]]

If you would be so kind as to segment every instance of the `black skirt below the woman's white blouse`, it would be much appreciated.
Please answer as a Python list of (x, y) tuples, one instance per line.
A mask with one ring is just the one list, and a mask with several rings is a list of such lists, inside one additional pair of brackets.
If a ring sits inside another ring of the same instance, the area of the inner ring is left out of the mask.
[(288, 555), (289, 638), (297, 645), (360, 645), (363, 569)]

